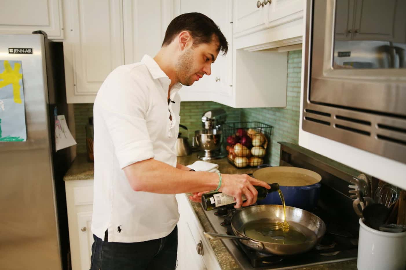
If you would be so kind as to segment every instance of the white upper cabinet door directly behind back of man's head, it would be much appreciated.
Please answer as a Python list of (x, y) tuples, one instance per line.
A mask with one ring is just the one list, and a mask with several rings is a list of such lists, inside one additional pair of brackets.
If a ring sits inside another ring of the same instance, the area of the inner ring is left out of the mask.
[(123, 0), (125, 64), (158, 53), (173, 15), (172, 1)]

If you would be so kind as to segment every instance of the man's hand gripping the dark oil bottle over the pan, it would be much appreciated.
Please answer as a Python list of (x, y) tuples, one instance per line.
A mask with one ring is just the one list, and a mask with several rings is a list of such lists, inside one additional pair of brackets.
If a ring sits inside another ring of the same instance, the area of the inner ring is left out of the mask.
[[(266, 182), (248, 176), (248, 174), (222, 174), (222, 184), (218, 191), (231, 195), (236, 198), (237, 204), (234, 208), (241, 206), (249, 206), (257, 201), (258, 191), (254, 186), (263, 186), (270, 189), (270, 185)], [(242, 195), (245, 195), (247, 200), (242, 203)]]

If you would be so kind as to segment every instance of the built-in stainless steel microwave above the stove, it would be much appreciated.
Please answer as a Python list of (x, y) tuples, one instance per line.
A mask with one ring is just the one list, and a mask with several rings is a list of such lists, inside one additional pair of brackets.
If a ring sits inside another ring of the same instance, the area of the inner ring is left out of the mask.
[(307, 0), (302, 129), (406, 164), (406, 0)]

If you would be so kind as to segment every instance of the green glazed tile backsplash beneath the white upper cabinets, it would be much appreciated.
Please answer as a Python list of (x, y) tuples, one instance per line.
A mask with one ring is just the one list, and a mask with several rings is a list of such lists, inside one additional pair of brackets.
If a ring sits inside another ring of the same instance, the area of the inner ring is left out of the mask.
[[(285, 108), (248, 108), (235, 109), (212, 101), (185, 101), (181, 103), (181, 124), (189, 129), (189, 138), (197, 129), (202, 128), (201, 116), (203, 112), (222, 108), (227, 112), (229, 122), (258, 121), (274, 126), (272, 131), (270, 160), (274, 166), (279, 165), (278, 141), (288, 141), (297, 144), (299, 138), (299, 108), (300, 108), (300, 74), (302, 51), (290, 51), (288, 54), (287, 74), (287, 106)], [(78, 153), (86, 152), (85, 125), (89, 116), (93, 116), (93, 104), (75, 104), (76, 141)], [(180, 129), (181, 133), (186, 131)], [(186, 134), (185, 134), (186, 135)]]

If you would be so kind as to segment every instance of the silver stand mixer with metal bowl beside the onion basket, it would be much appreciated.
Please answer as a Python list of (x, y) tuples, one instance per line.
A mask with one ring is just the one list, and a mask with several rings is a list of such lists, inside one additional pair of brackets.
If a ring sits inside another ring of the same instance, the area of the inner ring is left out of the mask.
[(222, 144), (222, 124), (227, 119), (223, 109), (205, 111), (201, 118), (203, 129), (194, 132), (194, 139), (202, 152), (197, 154), (201, 160), (221, 159), (227, 156)]

